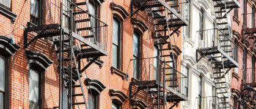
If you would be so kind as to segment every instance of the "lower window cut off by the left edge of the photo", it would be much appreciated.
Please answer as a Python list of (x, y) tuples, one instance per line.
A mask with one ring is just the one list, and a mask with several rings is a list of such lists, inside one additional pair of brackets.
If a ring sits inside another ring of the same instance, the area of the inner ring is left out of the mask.
[(0, 55), (0, 109), (9, 106), (9, 72), (8, 58)]

